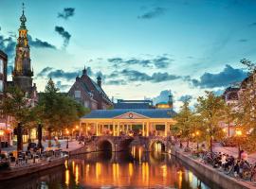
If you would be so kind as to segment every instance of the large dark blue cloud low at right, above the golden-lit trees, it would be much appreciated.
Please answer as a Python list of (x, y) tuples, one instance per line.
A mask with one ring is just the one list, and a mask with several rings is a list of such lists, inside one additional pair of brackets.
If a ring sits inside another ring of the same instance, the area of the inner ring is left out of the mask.
[(190, 79), (192, 85), (200, 88), (227, 87), (232, 83), (240, 82), (247, 77), (242, 69), (232, 68), (226, 65), (223, 71), (217, 74), (205, 73), (200, 79)]

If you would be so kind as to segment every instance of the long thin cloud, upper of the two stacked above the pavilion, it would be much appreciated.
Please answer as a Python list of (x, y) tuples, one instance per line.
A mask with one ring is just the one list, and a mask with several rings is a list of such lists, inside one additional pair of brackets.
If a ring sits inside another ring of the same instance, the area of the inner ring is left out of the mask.
[(173, 62), (173, 59), (169, 59), (166, 56), (158, 56), (154, 59), (128, 59), (124, 60), (122, 58), (113, 58), (108, 59), (109, 62), (114, 63), (115, 67), (123, 67), (123, 66), (129, 66), (129, 65), (140, 65), (142, 67), (155, 67), (158, 69), (161, 68), (167, 68), (171, 62)]

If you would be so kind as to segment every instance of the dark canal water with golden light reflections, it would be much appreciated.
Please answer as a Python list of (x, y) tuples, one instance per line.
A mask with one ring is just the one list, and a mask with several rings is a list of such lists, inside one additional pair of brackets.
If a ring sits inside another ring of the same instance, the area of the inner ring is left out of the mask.
[(217, 188), (200, 180), (173, 156), (160, 152), (95, 152), (64, 166), (0, 183), (5, 189)]

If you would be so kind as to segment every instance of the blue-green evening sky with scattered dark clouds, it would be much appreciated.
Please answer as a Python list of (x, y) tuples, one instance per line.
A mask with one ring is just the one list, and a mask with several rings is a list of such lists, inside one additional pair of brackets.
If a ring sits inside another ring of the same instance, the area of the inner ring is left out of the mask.
[(52, 77), (67, 92), (86, 66), (109, 97), (158, 102), (171, 91), (178, 108), (223, 93), (247, 77), (240, 60), (256, 60), (255, 0), (0, 0), (9, 73), (23, 2), (38, 91)]

